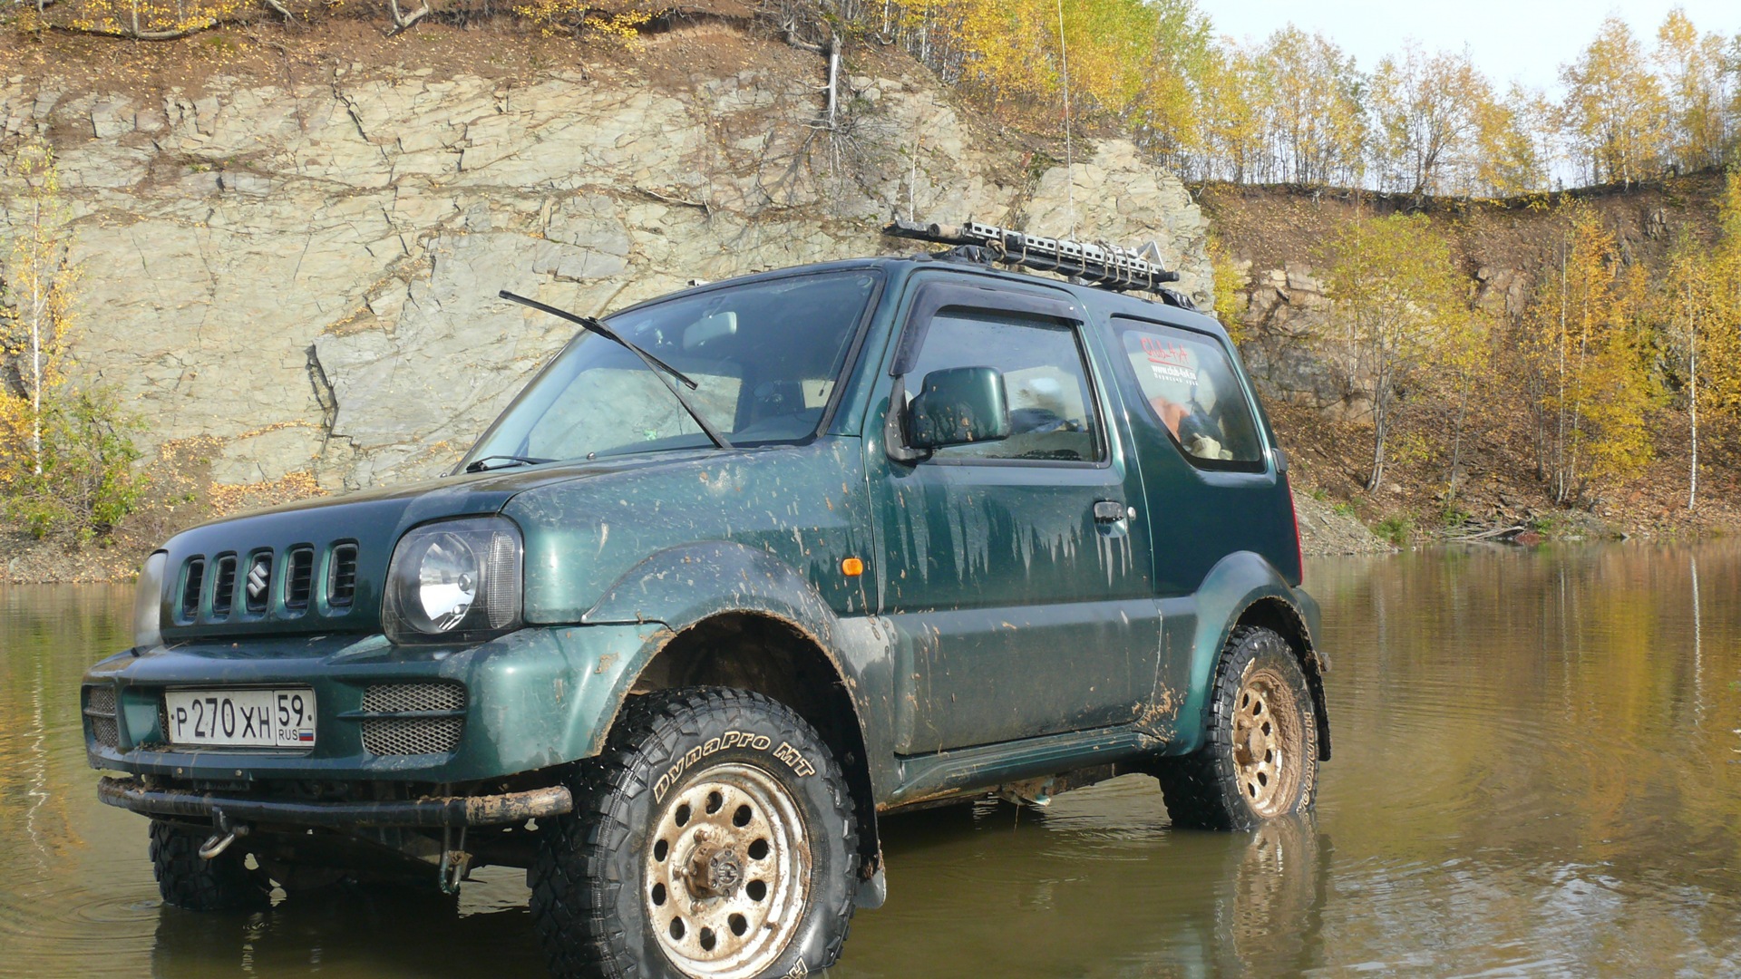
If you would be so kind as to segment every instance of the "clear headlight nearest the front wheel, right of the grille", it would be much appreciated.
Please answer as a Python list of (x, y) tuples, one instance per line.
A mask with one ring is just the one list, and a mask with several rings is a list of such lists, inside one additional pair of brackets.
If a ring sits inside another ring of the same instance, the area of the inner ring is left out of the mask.
[(521, 531), (505, 517), (413, 528), (387, 568), (381, 631), (395, 643), (472, 643), (521, 624)]

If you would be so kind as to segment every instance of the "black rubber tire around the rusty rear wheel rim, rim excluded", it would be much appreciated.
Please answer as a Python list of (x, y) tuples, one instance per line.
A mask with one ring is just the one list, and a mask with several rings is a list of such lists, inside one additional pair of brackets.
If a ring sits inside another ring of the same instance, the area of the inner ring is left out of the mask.
[[(1276, 800), (1267, 814), (1254, 808), (1241, 791), (1234, 754), (1234, 712), (1241, 690), (1254, 674), (1276, 686), (1278, 700), (1292, 714), (1283, 718), (1294, 742), (1285, 746), (1285, 758), (1297, 766), (1297, 779), (1290, 777), (1288, 798)], [(1318, 791), (1318, 716), (1306, 674), (1287, 639), (1257, 625), (1233, 631), (1210, 686), (1203, 746), (1186, 756), (1158, 760), (1154, 775), (1161, 782), (1166, 814), (1182, 829), (1248, 831), (1271, 817), (1311, 810)]]

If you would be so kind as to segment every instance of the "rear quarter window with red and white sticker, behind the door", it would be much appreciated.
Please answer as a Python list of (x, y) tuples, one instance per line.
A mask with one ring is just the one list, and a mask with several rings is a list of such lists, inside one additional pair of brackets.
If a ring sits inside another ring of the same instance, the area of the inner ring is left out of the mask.
[(1264, 444), (1227, 350), (1187, 329), (1114, 319), (1151, 416), (1201, 469), (1262, 472)]

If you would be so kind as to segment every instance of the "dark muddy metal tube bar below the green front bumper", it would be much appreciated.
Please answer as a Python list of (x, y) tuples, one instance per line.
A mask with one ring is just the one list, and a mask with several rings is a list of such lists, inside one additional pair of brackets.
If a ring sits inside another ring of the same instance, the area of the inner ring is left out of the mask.
[(242, 794), (153, 789), (138, 779), (99, 779), (97, 798), (141, 815), (225, 819), (275, 826), (507, 826), (562, 815), (575, 798), (562, 786), (493, 796), (432, 796), (397, 801), (291, 801)]

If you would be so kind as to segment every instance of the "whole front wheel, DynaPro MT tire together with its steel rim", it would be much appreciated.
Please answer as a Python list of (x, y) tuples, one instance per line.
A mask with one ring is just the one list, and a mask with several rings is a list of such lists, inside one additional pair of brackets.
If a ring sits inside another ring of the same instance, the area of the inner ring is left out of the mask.
[(839, 958), (858, 833), (832, 753), (775, 700), (634, 697), (528, 880), (559, 977), (806, 976)]

